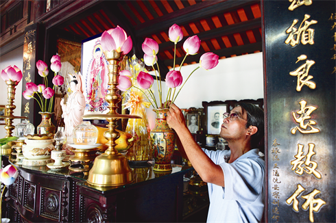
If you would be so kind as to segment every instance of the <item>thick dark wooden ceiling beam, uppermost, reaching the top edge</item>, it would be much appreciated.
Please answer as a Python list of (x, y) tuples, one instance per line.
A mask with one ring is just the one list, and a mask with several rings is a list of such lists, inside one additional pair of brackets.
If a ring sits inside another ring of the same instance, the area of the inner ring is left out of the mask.
[(235, 10), (236, 8), (241, 8), (245, 5), (259, 2), (260, 0), (203, 1), (202, 3), (191, 5), (187, 8), (183, 8), (182, 10), (178, 10), (177, 12), (160, 16), (159, 18), (153, 19), (147, 23), (137, 25), (135, 27), (136, 36), (149, 36), (150, 34), (157, 33), (163, 29), (169, 29), (169, 27), (174, 23), (182, 25), (184, 23), (189, 23), (190, 21), (199, 20), (200, 18), (213, 16), (223, 12), (229, 12), (230, 10)]

